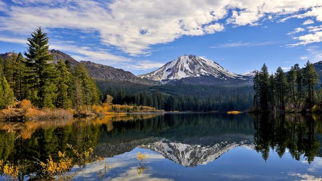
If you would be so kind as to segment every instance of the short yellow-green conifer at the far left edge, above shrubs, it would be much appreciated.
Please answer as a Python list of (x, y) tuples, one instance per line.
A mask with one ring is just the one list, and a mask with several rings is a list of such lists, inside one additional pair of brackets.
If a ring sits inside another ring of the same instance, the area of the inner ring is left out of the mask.
[(3, 77), (0, 81), (0, 109), (7, 108), (12, 103), (14, 103), (13, 91)]

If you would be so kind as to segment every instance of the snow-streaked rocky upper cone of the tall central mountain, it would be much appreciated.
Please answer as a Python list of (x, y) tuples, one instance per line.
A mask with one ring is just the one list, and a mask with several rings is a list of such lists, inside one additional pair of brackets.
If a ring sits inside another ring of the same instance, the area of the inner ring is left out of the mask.
[(243, 79), (242, 76), (229, 72), (214, 61), (196, 55), (183, 55), (160, 69), (148, 74), (139, 75), (140, 78), (155, 81), (179, 80), (187, 77), (213, 76), (218, 79)]

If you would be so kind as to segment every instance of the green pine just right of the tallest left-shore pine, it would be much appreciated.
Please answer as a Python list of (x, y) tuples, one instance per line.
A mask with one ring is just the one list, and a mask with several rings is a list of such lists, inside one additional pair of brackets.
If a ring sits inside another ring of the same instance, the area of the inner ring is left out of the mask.
[(69, 83), (69, 75), (65, 63), (62, 60), (59, 60), (56, 65), (57, 72), (57, 86), (56, 86), (56, 100), (55, 106), (59, 108), (70, 108), (71, 100), (68, 98), (68, 83)]

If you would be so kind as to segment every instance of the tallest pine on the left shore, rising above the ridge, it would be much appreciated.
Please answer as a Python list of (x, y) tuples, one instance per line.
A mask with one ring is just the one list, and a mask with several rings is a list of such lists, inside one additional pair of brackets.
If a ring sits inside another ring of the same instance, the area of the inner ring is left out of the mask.
[(31, 34), (27, 39), (28, 47), (24, 55), (27, 57), (27, 65), (30, 68), (28, 84), (31, 89), (35, 89), (37, 94), (30, 97), (38, 107), (52, 107), (54, 96), (54, 66), (49, 63), (54, 55), (48, 51), (49, 38), (47, 33), (43, 33), (41, 27)]

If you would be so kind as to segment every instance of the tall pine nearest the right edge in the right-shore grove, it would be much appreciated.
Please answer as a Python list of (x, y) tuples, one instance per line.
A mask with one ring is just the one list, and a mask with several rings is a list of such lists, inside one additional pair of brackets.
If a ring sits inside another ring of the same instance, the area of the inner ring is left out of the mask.
[(304, 85), (308, 91), (308, 106), (311, 109), (313, 107), (314, 87), (319, 82), (319, 75), (315, 71), (314, 66), (309, 61), (304, 68)]

